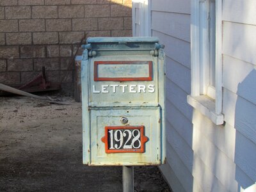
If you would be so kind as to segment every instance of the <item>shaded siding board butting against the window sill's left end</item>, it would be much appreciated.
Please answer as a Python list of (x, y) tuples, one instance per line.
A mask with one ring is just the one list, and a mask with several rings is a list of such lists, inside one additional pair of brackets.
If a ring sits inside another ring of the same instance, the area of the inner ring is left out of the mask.
[(188, 93), (184, 92), (177, 84), (166, 78), (166, 99), (179, 109), (189, 120), (192, 119), (193, 108), (187, 102)]

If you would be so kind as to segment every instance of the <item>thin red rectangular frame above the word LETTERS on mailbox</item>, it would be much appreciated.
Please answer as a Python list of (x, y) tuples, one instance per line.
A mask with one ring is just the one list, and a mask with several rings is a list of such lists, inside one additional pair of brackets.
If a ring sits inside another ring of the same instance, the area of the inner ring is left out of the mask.
[[(99, 65), (148, 64), (148, 77), (99, 77)], [(152, 81), (152, 61), (94, 61), (94, 81)]]

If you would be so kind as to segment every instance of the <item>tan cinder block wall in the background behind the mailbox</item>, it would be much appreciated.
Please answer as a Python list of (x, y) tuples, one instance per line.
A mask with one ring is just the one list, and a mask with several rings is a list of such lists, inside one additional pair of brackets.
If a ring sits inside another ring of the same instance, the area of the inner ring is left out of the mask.
[[(0, 83), (17, 86), (45, 66), (73, 93), (67, 65), (87, 36), (132, 36), (131, 0), (0, 0)], [(66, 76), (67, 74), (67, 76)], [(63, 76), (66, 78), (63, 79)]]

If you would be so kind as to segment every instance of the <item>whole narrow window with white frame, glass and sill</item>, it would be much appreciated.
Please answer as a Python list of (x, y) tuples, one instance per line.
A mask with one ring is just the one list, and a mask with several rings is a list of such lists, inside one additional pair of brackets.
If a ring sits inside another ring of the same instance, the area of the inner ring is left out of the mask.
[(191, 1), (191, 95), (188, 103), (223, 124), (221, 0)]

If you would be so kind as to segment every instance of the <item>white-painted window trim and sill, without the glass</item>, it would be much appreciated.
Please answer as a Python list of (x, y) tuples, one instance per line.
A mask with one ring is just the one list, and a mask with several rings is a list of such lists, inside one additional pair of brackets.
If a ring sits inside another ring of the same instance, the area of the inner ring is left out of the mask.
[[(191, 95), (188, 104), (207, 116), (216, 125), (224, 122), (222, 112), (222, 2), (216, 0), (216, 68), (215, 100), (200, 95), (200, 55), (199, 55), (199, 1), (191, 1)], [(214, 93), (213, 93), (214, 95)]]

